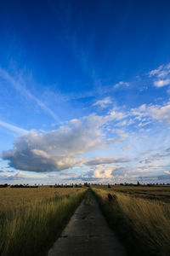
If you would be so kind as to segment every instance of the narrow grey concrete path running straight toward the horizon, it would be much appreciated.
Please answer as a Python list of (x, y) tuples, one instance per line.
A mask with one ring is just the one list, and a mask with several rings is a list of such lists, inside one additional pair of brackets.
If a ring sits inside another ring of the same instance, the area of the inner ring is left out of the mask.
[(124, 248), (117, 241), (100, 212), (94, 195), (90, 204), (83, 200), (71, 221), (54, 243), (48, 256), (125, 256)]

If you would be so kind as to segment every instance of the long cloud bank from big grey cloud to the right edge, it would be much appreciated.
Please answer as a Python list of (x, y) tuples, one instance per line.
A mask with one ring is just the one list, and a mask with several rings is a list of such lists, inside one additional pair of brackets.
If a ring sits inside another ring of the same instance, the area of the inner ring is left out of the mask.
[[(75, 166), (105, 165), (105, 169), (107, 169), (106, 167), (111, 164), (119, 166), (132, 159), (126, 155), (117, 157), (115, 154), (110, 157), (94, 156), (87, 159), (85, 155), (95, 150), (114, 147), (114, 145), (127, 140), (127, 144), (122, 150), (123, 154), (126, 154), (126, 151), (131, 149), (131, 147), (127, 147), (127, 145), (131, 145), (129, 144), (130, 140), (135, 143), (139, 131), (143, 131), (143, 127), (156, 122), (168, 126), (169, 119), (168, 103), (164, 106), (143, 104), (139, 108), (127, 111), (112, 108), (103, 116), (90, 114), (80, 119), (71, 119), (57, 130), (30, 131), (19, 135), (15, 138), (14, 148), (3, 151), (1, 157), (3, 160), (8, 160), (9, 166), (16, 170), (29, 172), (61, 172)], [(134, 128), (137, 130), (136, 133), (131, 131)], [(144, 135), (144, 139), (145, 137), (146, 135)], [(142, 162), (144, 162), (144, 156), (142, 160), (139, 160), (139, 164)], [(147, 164), (147, 161), (145, 163)], [(92, 177), (94, 176), (93, 174)], [(106, 175), (106, 177), (109, 176)]]

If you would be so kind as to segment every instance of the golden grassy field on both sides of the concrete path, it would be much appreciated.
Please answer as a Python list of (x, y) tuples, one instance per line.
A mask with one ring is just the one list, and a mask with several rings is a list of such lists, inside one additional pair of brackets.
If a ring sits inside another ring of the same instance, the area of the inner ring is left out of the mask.
[[(92, 189), (128, 255), (170, 255), (169, 186), (95, 185)], [(0, 255), (47, 255), (86, 190), (1, 188)], [(109, 193), (116, 195), (115, 201), (108, 200)]]

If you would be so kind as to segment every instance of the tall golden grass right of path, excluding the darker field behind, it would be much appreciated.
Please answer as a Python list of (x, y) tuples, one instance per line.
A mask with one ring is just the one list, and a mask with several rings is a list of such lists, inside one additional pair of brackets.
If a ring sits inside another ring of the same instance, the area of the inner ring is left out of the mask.
[[(123, 235), (125, 243), (126, 239), (127, 243), (132, 243), (131, 249), (128, 250), (130, 255), (132, 251), (133, 255), (136, 255), (137, 252), (138, 255), (169, 255), (169, 203), (150, 201), (114, 192), (117, 202), (109, 204), (107, 195), (111, 193), (111, 189), (94, 189), (94, 192), (99, 195), (101, 205), (106, 206), (105, 214), (110, 218), (109, 221), (116, 228), (117, 233), (120, 237)], [(113, 220), (113, 218), (115, 219)], [(127, 244), (128, 246), (130, 245)], [(138, 248), (135, 249), (135, 246)]]

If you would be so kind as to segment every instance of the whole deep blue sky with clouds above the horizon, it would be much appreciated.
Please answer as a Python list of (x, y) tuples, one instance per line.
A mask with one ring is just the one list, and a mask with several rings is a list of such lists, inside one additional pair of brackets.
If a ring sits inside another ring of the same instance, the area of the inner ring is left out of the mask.
[(170, 183), (169, 10), (1, 1), (0, 183)]

